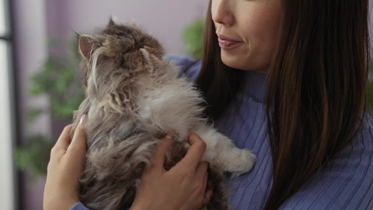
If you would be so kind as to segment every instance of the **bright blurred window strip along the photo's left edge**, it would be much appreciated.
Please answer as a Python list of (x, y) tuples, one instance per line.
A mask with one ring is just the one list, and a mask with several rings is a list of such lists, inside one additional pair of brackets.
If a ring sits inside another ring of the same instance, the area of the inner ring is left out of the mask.
[(18, 178), (13, 161), (16, 144), (16, 108), (13, 71), (11, 0), (0, 0), (0, 203), (2, 209), (18, 209), (15, 202)]

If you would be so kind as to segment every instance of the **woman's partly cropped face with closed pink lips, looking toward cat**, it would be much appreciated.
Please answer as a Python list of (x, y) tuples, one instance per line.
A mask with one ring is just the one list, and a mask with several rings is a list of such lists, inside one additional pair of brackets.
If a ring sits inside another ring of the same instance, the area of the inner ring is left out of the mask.
[(225, 65), (266, 74), (277, 44), (280, 0), (212, 0)]

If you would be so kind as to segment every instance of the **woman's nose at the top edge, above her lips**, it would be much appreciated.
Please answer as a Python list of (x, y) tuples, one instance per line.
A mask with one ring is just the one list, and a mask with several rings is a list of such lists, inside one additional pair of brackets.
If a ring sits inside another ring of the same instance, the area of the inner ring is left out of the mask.
[(211, 5), (211, 12), (212, 12), (212, 19), (214, 22), (218, 24), (223, 24), (227, 26), (232, 26), (234, 23), (234, 16), (231, 11), (232, 5), (230, 2), (232, 0), (213, 0), (217, 1), (214, 5), (214, 3)]

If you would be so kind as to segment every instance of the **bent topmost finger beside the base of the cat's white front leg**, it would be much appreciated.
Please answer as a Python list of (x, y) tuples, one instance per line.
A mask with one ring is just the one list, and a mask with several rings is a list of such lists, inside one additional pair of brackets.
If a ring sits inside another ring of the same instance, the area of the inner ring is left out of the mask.
[(186, 152), (184, 158), (179, 161), (179, 165), (195, 169), (206, 150), (206, 143), (195, 133), (189, 133), (188, 140), (191, 147)]

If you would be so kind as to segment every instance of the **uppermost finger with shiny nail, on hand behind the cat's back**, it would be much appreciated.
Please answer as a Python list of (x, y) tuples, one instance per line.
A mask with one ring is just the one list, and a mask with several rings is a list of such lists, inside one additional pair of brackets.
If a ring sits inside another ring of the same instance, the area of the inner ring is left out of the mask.
[(69, 145), (68, 151), (66, 154), (75, 156), (75, 155), (81, 155), (85, 154), (87, 151), (87, 139), (85, 136), (85, 120), (87, 120), (87, 115), (84, 114), (80, 121), (78, 126), (75, 129), (74, 137), (71, 140), (71, 143)]

